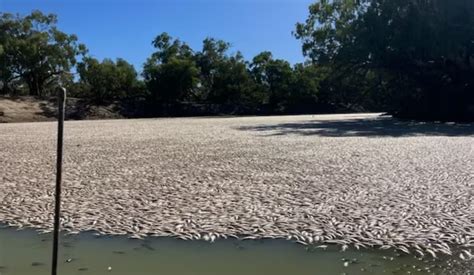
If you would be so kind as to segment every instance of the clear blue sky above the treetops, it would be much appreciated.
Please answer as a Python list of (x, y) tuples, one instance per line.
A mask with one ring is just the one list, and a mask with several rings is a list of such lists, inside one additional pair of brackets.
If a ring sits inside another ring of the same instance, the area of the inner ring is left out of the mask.
[(276, 58), (303, 61), (292, 31), (314, 0), (0, 0), (0, 11), (34, 9), (58, 15), (59, 27), (74, 33), (99, 59), (122, 57), (138, 70), (161, 32), (200, 50), (205, 37), (223, 39), (246, 59), (269, 50)]

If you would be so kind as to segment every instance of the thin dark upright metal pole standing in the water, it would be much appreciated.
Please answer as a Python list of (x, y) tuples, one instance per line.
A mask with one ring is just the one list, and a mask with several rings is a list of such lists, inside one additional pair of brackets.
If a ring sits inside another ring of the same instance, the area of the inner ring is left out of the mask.
[(57, 275), (58, 272), (58, 242), (59, 226), (61, 214), (61, 181), (63, 166), (63, 133), (64, 133), (64, 109), (66, 105), (66, 89), (58, 88), (58, 144), (56, 156), (56, 194), (54, 209), (54, 235), (53, 235), (53, 263), (51, 274)]

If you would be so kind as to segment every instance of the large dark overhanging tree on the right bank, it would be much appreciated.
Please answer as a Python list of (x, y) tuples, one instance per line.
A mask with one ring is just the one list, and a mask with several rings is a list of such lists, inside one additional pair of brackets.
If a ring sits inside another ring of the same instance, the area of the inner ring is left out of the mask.
[(472, 1), (320, 0), (296, 37), (310, 60), (332, 68), (327, 82), (346, 102), (462, 119), (474, 117), (473, 23)]

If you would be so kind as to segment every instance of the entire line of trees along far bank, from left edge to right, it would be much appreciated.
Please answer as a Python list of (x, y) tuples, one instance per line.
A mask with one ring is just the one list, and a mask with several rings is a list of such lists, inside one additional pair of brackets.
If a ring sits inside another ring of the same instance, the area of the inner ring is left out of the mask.
[(295, 65), (270, 52), (246, 60), (213, 38), (195, 50), (162, 33), (141, 75), (126, 60), (92, 58), (55, 15), (0, 15), (1, 94), (44, 97), (61, 84), (142, 116), (386, 111), (474, 120), (470, 0), (316, 1), (296, 25), (307, 58)]

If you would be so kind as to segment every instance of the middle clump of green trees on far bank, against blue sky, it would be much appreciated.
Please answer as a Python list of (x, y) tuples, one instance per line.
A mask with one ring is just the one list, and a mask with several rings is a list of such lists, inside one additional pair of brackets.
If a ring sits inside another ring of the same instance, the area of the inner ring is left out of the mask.
[(240, 52), (229, 53), (229, 43), (214, 38), (206, 38), (199, 52), (167, 33), (158, 35), (153, 45), (157, 51), (147, 60), (143, 77), (156, 108), (196, 102), (251, 112), (265, 105), (271, 112), (285, 112), (317, 102), (320, 78), (314, 66), (293, 68), (270, 52), (249, 64)]

